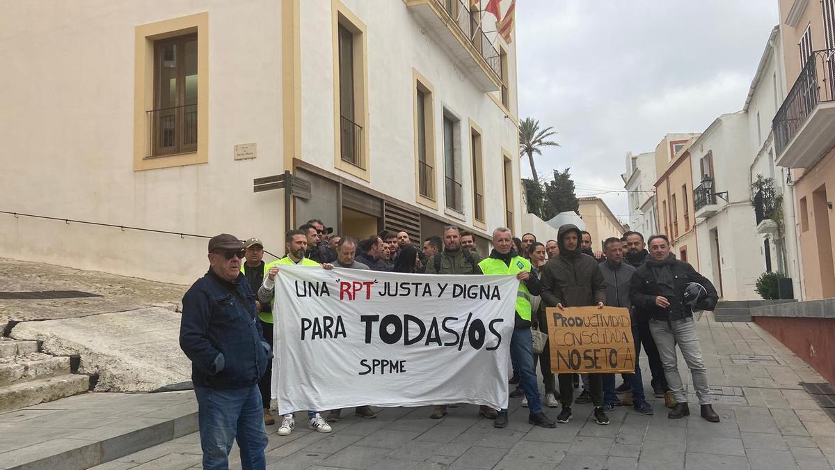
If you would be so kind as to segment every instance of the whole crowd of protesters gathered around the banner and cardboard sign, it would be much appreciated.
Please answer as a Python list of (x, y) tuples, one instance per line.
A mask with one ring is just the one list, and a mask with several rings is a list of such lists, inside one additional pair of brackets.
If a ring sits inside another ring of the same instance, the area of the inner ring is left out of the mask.
[[(180, 345), (192, 361), (192, 378), (199, 406), (200, 442), (205, 467), (225, 467), (232, 442), (238, 439), (244, 467), (262, 467), (266, 447), (265, 425), (273, 425), (271, 371), (273, 345), (272, 300), (276, 274), (282, 265), (369, 269), (394, 273), (515, 274), (519, 279), (514, 334), (510, 341), (513, 375), (511, 397), (524, 396), (529, 423), (556, 427), (569, 422), (574, 405), (592, 404), (591, 414), (600, 425), (609, 424), (607, 412), (615, 406), (632, 406), (641, 414), (653, 414), (646, 400), (646, 374), (639, 365), (647, 356), (653, 396), (664, 398), (668, 417), (690, 414), (687, 393), (678, 370), (676, 345), (691, 371), (693, 388), (707, 421), (719, 421), (709, 401), (706, 368), (696, 336), (693, 311), (713, 309), (717, 294), (711, 282), (690, 264), (675, 258), (670, 240), (652, 235), (646, 241), (639, 232), (608, 238), (595, 251), (589, 232), (572, 224), (559, 227), (556, 240), (539, 242), (533, 233), (516, 238), (508, 228), (493, 232), (489, 253), (479, 252), (473, 233), (456, 226), (423, 240), (419, 247), (407, 232), (382, 231), (357, 240), (334, 234), (320, 220), (312, 219), (286, 234), (284, 258), (265, 263), (259, 238), (240, 241), (229, 234), (211, 238), (210, 268), (185, 294)], [(630, 310), (635, 344), (635, 370), (615, 374), (554, 374), (546, 341), (534, 354), (531, 329), (546, 331), (545, 309), (605, 306)], [(249, 322), (230, 321), (236, 317)], [(256, 350), (255, 364), (251, 351)], [(246, 353), (249, 351), (249, 353)], [(249, 358), (249, 359), (244, 359)], [(247, 362), (247, 360), (249, 362)], [(540, 396), (537, 363), (544, 385)], [(574, 389), (580, 389), (574, 398)], [(443, 419), (448, 403), (438, 403), (430, 415)], [(552, 420), (543, 406), (560, 407)], [(342, 410), (308, 411), (308, 426), (331, 432)], [(371, 406), (357, 406), (357, 416), (375, 418)], [(508, 425), (508, 410), (479, 406), (478, 415), (493, 426)], [(292, 414), (281, 416), (276, 432), (289, 435), (295, 427)]]

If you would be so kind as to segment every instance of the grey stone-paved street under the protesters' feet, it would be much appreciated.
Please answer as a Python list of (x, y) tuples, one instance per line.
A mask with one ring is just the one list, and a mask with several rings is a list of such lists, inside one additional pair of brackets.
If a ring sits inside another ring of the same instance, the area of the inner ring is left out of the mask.
[[(668, 419), (660, 399), (651, 401), (654, 416), (620, 407), (609, 426), (587, 419), (590, 405), (574, 406), (574, 421), (556, 429), (529, 425), (519, 398), (505, 429), (478, 418), (476, 406), (451, 408), (442, 420), (429, 419), (429, 407), (382, 409), (373, 420), (348, 416), (330, 434), (309, 431), (300, 413), (288, 437), (276, 436), (277, 424), (267, 427), (268, 467), (832, 468), (835, 423), (800, 385), (822, 377), (756, 324), (702, 319), (698, 331), (720, 423), (702, 420), (697, 406), (685, 419)], [(170, 470), (200, 467), (200, 458), (200, 438), (191, 434), (97, 468)], [(230, 462), (240, 467), (237, 447)]]

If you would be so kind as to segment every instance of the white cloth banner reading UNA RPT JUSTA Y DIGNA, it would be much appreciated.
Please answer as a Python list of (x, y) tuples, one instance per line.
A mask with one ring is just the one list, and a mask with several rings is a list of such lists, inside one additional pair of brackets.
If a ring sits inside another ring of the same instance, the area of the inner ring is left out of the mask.
[(278, 408), (508, 405), (515, 276), (281, 266)]

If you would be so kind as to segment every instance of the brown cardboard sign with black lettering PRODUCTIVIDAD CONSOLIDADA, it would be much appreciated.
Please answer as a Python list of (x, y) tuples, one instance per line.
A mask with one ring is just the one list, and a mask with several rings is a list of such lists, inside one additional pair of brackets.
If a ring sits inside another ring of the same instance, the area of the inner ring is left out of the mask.
[(635, 372), (635, 342), (628, 309), (546, 309), (551, 371)]

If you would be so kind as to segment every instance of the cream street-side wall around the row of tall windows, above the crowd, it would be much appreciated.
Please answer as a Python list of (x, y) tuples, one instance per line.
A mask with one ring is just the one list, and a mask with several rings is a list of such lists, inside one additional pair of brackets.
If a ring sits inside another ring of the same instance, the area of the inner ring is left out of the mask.
[[(443, 110), (447, 108), (461, 120), (459, 133), (463, 168), (463, 222), (473, 224), (472, 178), (468, 143), (468, 120), (483, 130), (484, 200), (488, 232), (505, 225), (502, 148), (512, 156), (518, 153), (518, 130), (505, 118), (488, 95), (479, 90), (460, 70), (435, 39), (422, 31), (420, 23), (402, 2), (343, 3), (367, 26), (369, 89), (368, 186), (391, 197), (416, 203), (414, 177), (414, 121), (412, 68), (434, 87), (434, 135), (438, 168), (436, 184), (439, 215), (458, 217), (444, 210), (443, 202)], [(489, 17), (492, 18), (492, 17)], [(301, 119), (302, 149), (305, 160), (322, 168), (333, 167), (333, 46), (331, 42), (331, 3), (301, 3)], [(488, 28), (489, 30), (489, 28)], [(511, 79), (515, 82), (514, 44), (509, 49)], [(515, 86), (511, 93), (514, 96)], [(511, 102), (515, 106), (515, 98)], [(513, 158), (514, 208), (519, 227), (521, 186), (519, 158)], [(338, 172), (338, 171), (337, 171)], [(357, 177), (340, 172), (353, 181)]]

